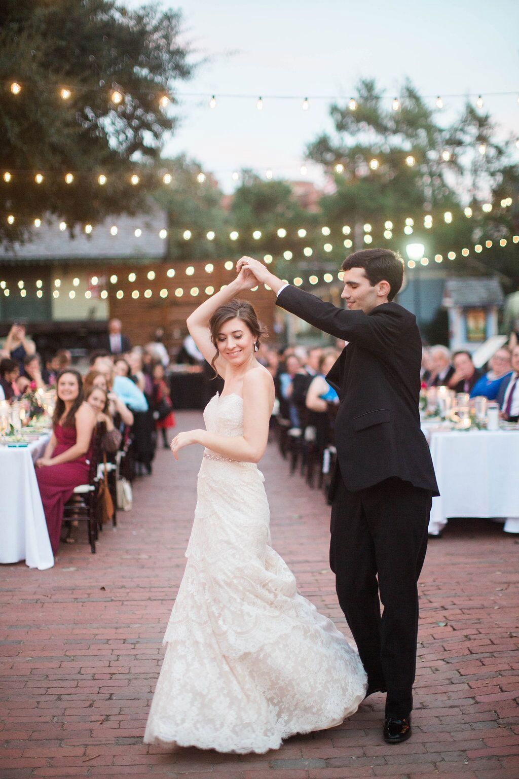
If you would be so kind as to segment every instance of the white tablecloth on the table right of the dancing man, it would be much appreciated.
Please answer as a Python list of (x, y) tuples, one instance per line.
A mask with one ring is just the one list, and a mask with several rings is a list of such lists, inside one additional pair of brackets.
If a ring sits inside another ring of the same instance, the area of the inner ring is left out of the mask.
[(433, 498), (430, 533), (455, 516), (508, 518), (504, 529), (519, 532), (519, 431), (430, 429), (426, 435), (441, 493)]

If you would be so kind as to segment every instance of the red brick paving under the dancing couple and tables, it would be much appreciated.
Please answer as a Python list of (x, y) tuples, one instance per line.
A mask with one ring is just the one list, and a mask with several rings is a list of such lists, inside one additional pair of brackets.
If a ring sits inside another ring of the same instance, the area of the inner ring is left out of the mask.
[[(182, 429), (201, 424), (190, 412), (178, 421)], [(184, 450), (177, 464), (161, 450), (153, 476), (136, 485), (134, 509), (103, 531), (96, 555), (83, 531), (78, 545), (62, 545), (51, 570), (0, 568), (0, 777), (518, 779), (519, 546), (479, 520), (453, 522), (430, 543), (409, 742), (384, 744), (377, 695), (340, 727), (291, 738), (264, 756), (172, 755), (142, 744), (200, 454)], [(303, 594), (345, 629), (321, 495), (289, 478), (275, 446), (261, 470), (275, 548)]]

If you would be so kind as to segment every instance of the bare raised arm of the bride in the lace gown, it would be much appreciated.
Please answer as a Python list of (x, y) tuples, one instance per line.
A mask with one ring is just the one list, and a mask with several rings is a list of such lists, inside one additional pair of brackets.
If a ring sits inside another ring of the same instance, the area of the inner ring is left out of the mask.
[[(199, 305), (198, 308), (195, 308), (195, 311), (188, 316), (188, 319), (186, 320), (188, 330), (198, 349), (202, 352), (209, 364), (215, 356), (216, 351), (216, 346), (211, 340), (211, 330), (209, 328), (209, 321), (212, 315), (221, 305), (236, 298), (240, 292), (250, 290), (251, 287), (255, 287), (256, 284), (258, 284), (258, 281), (251, 271), (247, 270), (247, 268), (243, 268), (230, 284), (227, 284), (223, 290), (216, 292), (201, 303), (201, 305)], [(219, 375), (225, 379), (225, 360), (221, 357), (217, 358), (215, 366)]]

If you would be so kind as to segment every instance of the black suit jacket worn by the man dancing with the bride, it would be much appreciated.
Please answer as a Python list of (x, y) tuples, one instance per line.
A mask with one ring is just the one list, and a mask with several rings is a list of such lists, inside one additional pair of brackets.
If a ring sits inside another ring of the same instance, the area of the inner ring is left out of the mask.
[[(396, 303), (369, 314), (337, 308), (296, 287), (277, 305), (335, 338), (349, 341), (326, 376), (338, 393), (335, 446), (352, 492), (397, 477), (439, 495), (419, 420), (422, 340), (416, 317)], [(331, 492), (338, 477), (332, 478)]]

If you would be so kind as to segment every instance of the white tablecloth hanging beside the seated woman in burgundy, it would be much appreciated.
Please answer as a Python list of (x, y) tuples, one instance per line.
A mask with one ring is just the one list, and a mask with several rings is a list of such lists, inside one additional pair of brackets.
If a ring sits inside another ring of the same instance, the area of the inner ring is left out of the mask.
[(33, 465), (49, 438), (19, 449), (0, 446), (0, 562), (25, 560), (40, 571), (54, 566)]

